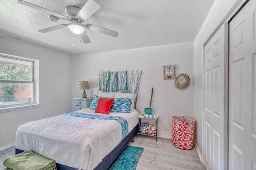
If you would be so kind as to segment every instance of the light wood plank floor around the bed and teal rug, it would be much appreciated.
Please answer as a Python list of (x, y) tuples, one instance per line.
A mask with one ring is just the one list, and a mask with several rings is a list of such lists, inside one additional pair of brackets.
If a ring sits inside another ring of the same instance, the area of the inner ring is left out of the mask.
[[(136, 170), (205, 170), (196, 149), (182, 150), (172, 145), (171, 139), (141, 135), (130, 142), (132, 146), (143, 147), (144, 151)], [(15, 154), (15, 146), (0, 151), (0, 170), (6, 158)]]

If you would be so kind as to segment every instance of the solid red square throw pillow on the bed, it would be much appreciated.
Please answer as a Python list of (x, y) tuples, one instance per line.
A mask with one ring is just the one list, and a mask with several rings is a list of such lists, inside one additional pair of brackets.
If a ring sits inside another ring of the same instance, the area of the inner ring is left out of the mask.
[(96, 106), (95, 112), (104, 113), (104, 114), (108, 115), (113, 101), (114, 101), (114, 98), (113, 99), (105, 99), (105, 98), (100, 97), (98, 104)]

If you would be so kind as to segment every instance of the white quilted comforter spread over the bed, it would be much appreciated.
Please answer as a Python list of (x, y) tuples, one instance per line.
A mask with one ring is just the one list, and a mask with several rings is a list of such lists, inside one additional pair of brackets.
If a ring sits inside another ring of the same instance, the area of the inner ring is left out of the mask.
[[(83, 109), (80, 113), (94, 113)], [(110, 113), (128, 122), (129, 132), (138, 123), (139, 112)], [(97, 120), (59, 115), (21, 125), (16, 132), (16, 148), (31, 150), (57, 163), (92, 170), (122, 140), (122, 127), (114, 120)]]

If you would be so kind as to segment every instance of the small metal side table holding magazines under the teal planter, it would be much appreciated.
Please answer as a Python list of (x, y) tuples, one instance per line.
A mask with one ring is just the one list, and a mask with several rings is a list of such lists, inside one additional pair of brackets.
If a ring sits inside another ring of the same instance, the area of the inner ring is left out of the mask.
[[(156, 141), (157, 141), (157, 120), (158, 116), (156, 119), (153, 118), (146, 118), (144, 117), (144, 114), (140, 114), (138, 116), (139, 119), (139, 132), (138, 132), (138, 138), (140, 134), (148, 135), (148, 136), (156, 136)], [(148, 122), (141, 122), (141, 119), (146, 119)]]

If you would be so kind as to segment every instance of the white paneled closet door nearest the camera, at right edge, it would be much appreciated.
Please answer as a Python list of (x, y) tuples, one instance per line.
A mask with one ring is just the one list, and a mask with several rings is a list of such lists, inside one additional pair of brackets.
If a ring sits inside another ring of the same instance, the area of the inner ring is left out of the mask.
[(256, 169), (256, 0), (230, 22), (229, 170)]

